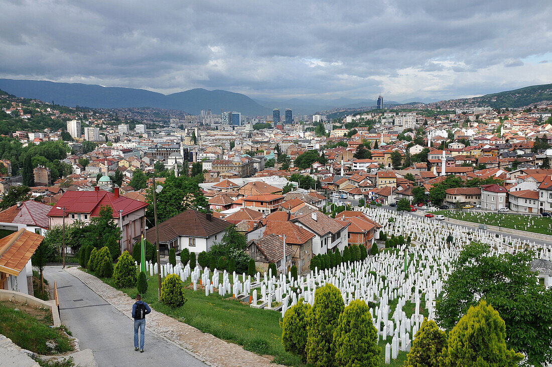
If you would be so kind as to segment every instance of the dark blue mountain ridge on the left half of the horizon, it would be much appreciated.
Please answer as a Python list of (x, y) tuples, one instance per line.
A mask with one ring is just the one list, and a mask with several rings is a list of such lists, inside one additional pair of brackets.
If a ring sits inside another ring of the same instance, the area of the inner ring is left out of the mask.
[(18, 97), (47, 102), (53, 100), (56, 104), (69, 107), (153, 107), (181, 110), (193, 115), (198, 115), (201, 109), (211, 109), (214, 114), (220, 114), (221, 109), (251, 116), (272, 113), (272, 109), (254, 102), (247, 95), (200, 88), (165, 95), (145, 89), (102, 87), (95, 84), (0, 79), (0, 89)]

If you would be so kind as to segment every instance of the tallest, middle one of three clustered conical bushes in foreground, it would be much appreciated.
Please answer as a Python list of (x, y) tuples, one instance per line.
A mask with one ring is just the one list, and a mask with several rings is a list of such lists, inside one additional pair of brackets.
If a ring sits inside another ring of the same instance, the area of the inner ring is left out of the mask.
[(333, 365), (333, 332), (344, 307), (341, 292), (335, 286), (326, 284), (316, 289), (310, 327), (307, 330), (306, 354), (310, 364)]

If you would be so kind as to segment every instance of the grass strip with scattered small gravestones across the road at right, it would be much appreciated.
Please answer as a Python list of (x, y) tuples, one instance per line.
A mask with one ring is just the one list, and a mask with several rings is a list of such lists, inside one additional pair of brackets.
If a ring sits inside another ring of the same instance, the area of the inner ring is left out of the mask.
[[(550, 217), (516, 215), (516, 214), (498, 214), (484, 212), (468, 212), (456, 210), (436, 210), (433, 214), (442, 214), (445, 217), (452, 219), (463, 220), (466, 222), (479, 223), (489, 226), (500, 226), (511, 228), (512, 230), (527, 231), (533, 233), (541, 233), (550, 235), (550, 225), (552, 219)], [(529, 224), (528, 224), (529, 222)], [(532, 224), (534, 222), (534, 224)], [(515, 227), (514, 227), (515, 226)]]

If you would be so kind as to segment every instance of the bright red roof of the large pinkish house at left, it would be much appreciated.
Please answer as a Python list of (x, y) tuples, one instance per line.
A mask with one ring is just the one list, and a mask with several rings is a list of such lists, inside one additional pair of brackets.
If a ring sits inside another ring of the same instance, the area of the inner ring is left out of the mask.
[(48, 213), (49, 217), (62, 217), (65, 206), (65, 214), (68, 213), (88, 213), (90, 216), (99, 216), (100, 209), (103, 206), (111, 206), (113, 217), (119, 217), (119, 210), (123, 210), (122, 215), (130, 214), (136, 210), (146, 208), (148, 204), (138, 200), (125, 198), (107, 191), (68, 191), (61, 196)]

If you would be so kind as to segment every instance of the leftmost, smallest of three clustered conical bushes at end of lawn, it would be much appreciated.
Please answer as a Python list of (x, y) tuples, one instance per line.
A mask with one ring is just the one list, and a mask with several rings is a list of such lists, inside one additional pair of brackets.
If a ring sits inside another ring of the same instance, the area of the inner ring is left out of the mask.
[(280, 321), (285, 351), (300, 355), (303, 363), (306, 362), (305, 345), (311, 312), (311, 305), (301, 298), (295, 306), (285, 311), (284, 318)]

